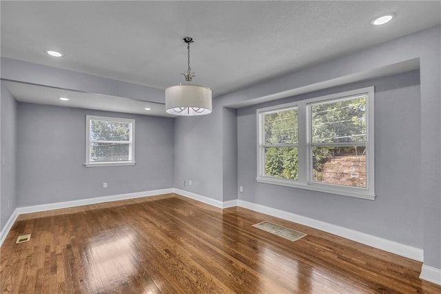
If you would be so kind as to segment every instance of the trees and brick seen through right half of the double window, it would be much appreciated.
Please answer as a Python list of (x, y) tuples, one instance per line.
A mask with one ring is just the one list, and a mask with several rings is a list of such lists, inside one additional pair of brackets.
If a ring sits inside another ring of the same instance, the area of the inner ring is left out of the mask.
[(366, 188), (366, 97), (309, 107), (314, 182)]

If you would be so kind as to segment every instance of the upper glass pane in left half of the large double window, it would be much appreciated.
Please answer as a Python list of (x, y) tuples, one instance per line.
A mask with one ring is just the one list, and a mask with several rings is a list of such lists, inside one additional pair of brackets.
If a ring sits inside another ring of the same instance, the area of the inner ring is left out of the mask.
[(265, 114), (265, 144), (297, 144), (297, 109)]

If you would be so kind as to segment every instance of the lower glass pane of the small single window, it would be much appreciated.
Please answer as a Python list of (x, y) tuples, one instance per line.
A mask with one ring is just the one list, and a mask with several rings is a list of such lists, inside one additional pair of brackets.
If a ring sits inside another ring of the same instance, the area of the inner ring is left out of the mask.
[(130, 160), (130, 144), (91, 143), (90, 161)]

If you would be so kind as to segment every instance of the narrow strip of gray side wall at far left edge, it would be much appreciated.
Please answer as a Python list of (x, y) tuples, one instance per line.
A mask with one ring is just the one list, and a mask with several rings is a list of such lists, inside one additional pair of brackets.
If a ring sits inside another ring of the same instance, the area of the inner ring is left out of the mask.
[(16, 193), (16, 147), (17, 147), (17, 101), (1, 84), (1, 192), (0, 231), (17, 207)]

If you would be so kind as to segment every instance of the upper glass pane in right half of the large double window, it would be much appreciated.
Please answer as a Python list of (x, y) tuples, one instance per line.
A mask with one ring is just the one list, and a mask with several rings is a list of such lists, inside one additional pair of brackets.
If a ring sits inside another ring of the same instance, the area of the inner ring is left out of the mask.
[(366, 141), (366, 97), (311, 106), (313, 143)]

